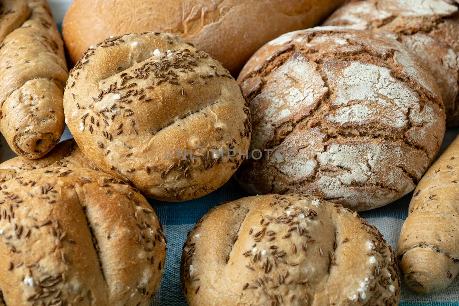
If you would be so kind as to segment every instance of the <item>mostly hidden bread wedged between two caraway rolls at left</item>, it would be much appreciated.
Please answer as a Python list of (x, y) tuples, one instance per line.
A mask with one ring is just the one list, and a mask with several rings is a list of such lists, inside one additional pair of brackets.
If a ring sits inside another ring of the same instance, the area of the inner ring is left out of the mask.
[(62, 141), (50, 153), (38, 159), (17, 156), (0, 164), (0, 183), (16, 178), (23, 172), (49, 166), (93, 169), (94, 165), (84, 156), (75, 140)]

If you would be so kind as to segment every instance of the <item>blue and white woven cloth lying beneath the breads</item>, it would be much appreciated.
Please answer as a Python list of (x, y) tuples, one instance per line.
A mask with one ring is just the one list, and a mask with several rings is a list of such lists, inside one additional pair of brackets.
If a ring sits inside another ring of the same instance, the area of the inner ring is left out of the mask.
[[(60, 27), (62, 18), (71, 0), (48, 1), (54, 18)], [(453, 141), (458, 133), (459, 128), (447, 132), (442, 150)], [(70, 137), (71, 135), (66, 129), (62, 139)], [(11, 151), (8, 151), (9, 148), (5, 139), (2, 138), (0, 140), (2, 144), (0, 158), (1, 161), (4, 161), (7, 158), (11, 158), (13, 154)], [(230, 180), (222, 188), (197, 200), (183, 203), (166, 203), (150, 200), (151, 206), (164, 225), (164, 234), (169, 241), (161, 287), (151, 303), (152, 306), (187, 305), (180, 289), (179, 278), (180, 254), (182, 245), (186, 239), (186, 233), (193, 228), (196, 220), (202, 217), (212, 206), (218, 205), (223, 201), (236, 200), (244, 196), (247, 196), (247, 194), (233, 180)], [(369, 223), (374, 224), (384, 234), (386, 240), (392, 245), (394, 250), (397, 247), (398, 235), (403, 220), (407, 217), (411, 196), (412, 194), (406, 195), (390, 205), (361, 213), (362, 217), (366, 218)], [(401, 306), (459, 306), (459, 279), (456, 278), (453, 284), (445, 291), (433, 295), (417, 295), (403, 286), (401, 300)]]

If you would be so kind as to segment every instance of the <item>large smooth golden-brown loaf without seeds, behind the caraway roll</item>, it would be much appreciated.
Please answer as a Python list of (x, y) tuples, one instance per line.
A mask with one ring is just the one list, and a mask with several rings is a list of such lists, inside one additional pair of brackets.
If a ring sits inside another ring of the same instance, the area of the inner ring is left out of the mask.
[(109, 36), (163, 31), (215, 56), (233, 74), (264, 43), (321, 22), (343, 0), (74, 0), (62, 34), (70, 60)]

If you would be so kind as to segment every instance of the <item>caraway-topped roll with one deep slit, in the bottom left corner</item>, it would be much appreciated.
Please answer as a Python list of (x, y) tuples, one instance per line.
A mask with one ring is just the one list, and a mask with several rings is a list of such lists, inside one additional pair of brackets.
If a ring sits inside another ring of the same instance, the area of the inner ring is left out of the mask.
[(135, 189), (54, 167), (25, 172), (1, 191), (3, 305), (150, 305), (167, 241)]

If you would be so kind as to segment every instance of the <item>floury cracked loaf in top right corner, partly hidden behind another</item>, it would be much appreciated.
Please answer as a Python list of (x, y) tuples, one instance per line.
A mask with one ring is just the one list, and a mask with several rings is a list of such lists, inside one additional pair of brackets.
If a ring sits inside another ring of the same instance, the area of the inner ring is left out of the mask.
[(325, 25), (372, 30), (397, 39), (437, 80), (448, 127), (459, 125), (459, 4), (454, 0), (353, 0)]

